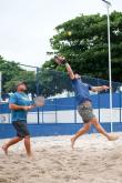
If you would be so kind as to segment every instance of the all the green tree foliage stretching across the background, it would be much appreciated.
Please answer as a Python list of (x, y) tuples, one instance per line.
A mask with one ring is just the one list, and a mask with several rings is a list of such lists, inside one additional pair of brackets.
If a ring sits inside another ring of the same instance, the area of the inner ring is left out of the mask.
[[(74, 71), (83, 75), (108, 79), (108, 24), (106, 16), (80, 16), (55, 28), (50, 40), (54, 52), (67, 58)], [(111, 13), (112, 79), (122, 82), (122, 12)], [(51, 71), (51, 70), (57, 70)], [(44, 96), (72, 91), (64, 67), (47, 61), (38, 75), (26, 71), (19, 63), (8, 62), (0, 57), (2, 92), (11, 92), (17, 81), (24, 81), (29, 92)], [(38, 81), (38, 82), (35, 82)], [(69, 84), (68, 84), (69, 83)], [(116, 88), (115, 88), (116, 89)]]

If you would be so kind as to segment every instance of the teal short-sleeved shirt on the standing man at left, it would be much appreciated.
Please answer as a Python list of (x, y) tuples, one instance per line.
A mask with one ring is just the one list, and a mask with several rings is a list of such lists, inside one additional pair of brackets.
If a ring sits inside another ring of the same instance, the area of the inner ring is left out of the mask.
[[(31, 101), (26, 93), (16, 92), (10, 96), (9, 103), (28, 106), (31, 104)], [(11, 110), (11, 121), (27, 121), (27, 111)]]

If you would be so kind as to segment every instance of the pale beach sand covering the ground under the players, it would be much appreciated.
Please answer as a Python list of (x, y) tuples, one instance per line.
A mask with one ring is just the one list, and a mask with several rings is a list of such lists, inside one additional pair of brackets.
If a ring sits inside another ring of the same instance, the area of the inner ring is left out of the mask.
[(1, 150), (0, 183), (122, 183), (122, 138), (109, 142), (87, 134), (74, 150), (70, 139), (32, 138), (33, 159), (26, 156), (22, 142), (10, 148), (9, 156)]

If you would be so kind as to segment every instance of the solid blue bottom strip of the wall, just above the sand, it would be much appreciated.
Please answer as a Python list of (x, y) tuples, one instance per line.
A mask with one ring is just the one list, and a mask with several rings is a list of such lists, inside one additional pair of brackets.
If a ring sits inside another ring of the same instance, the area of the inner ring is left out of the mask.
[[(50, 135), (72, 135), (83, 124), (28, 124), (31, 136), (50, 136)], [(110, 123), (102, 123), (102, 126), (111, 132)], [(122, 123), (113, 123), (113, 132), (122, 132)], [(96, 133), (94, 128), (91, 128), (89, 133)], [(11, 124), (0, 124), (0, 139), (12, 138), (16, 131)]]

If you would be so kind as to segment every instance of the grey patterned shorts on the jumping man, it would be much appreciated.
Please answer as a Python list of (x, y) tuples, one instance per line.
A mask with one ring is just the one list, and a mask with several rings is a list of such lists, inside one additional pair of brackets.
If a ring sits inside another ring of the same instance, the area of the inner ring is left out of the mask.
[(89, 123), (92, 119), (95, 118), (93, 114), (92, 104), (89, 101), (81, 103), (78, 106), (79, 114), (82, 116), (84, 123)]

